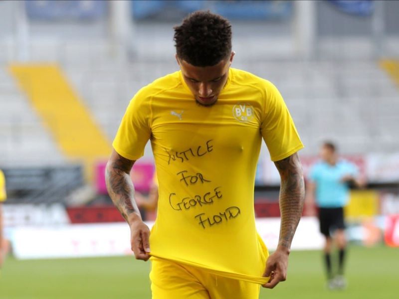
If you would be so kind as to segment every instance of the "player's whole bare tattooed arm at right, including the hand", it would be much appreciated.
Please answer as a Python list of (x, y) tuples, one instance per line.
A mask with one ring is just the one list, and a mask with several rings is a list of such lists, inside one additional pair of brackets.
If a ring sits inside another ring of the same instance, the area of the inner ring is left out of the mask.
[(302, 165), (298, 154), (275, 162), (281, 177), (280, 187), (280, 237), (276, 251), (269, 256), (264, 277), (270, 277), (263, 287), (272, 289), (287, 277), (288, 255), (292, 238), (301, 218), (305, 198)]

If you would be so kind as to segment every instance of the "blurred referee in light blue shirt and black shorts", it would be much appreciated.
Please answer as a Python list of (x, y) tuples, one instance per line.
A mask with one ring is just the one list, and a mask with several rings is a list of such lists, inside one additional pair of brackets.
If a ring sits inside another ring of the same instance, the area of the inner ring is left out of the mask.
[[(318, 207), (320, 232), (325, 237), (324, 260), (328, 288), (343, 289), (346, 287), (346, 280), (343, 277), (346, 249), (344, 206), (348, 203), (350, 184), (361, 187), (364, 181), (359, 178), (355, 164), (338, 159), (333, 143), (325, 142), (320, 149), (320, 156), (321, 160), (313, 165), (309, 172), (306, 205), (310, 211), (315, 203)], [(337, 275), (333, 274), (331, 265), (333, 236), (339, 250)]]

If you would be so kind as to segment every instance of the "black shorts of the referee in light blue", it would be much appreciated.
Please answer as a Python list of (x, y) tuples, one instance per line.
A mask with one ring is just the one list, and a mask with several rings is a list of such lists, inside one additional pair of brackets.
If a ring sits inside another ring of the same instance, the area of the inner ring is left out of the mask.
[(330, 237), (336, 229), (345, 229), (344, 208), (319, 208), (320, 232)]

